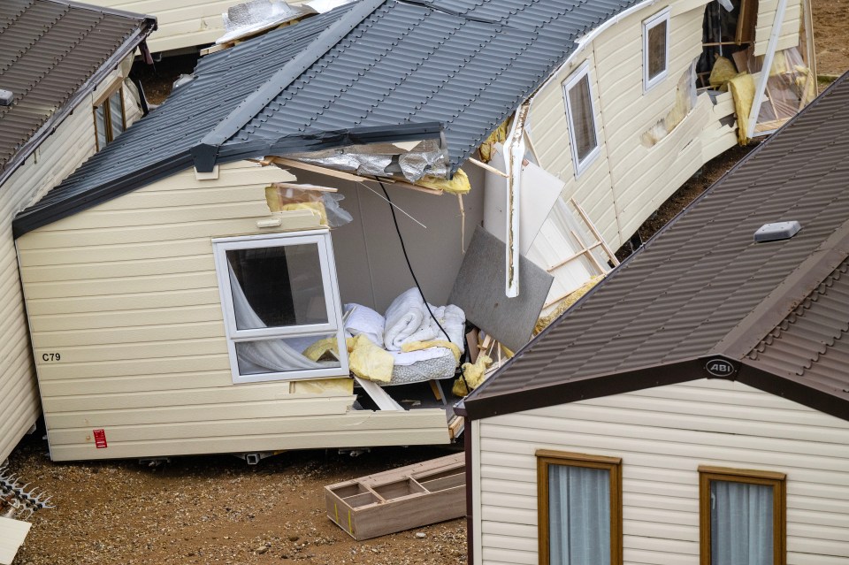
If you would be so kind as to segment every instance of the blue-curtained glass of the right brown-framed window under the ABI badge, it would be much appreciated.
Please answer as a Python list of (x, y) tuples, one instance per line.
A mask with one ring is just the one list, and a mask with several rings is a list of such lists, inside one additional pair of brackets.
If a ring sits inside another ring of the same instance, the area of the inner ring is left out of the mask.
[(712, 565), (773, 565), (770, 485), (710, 482)]

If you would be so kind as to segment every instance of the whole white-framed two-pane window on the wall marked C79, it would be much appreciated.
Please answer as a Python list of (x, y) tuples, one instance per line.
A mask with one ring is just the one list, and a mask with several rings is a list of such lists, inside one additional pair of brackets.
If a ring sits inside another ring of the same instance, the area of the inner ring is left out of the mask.
[(213, 248), (234, 383), (348, 374), (330, 233)]

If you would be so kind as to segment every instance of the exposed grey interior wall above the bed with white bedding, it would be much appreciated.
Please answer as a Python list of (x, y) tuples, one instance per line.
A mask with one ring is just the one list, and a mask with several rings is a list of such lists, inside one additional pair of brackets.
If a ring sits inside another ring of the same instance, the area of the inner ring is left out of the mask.
[[(447, 304), (448, 294), (474, 226), (483, 220), (483, 173), (465, 167), (472, 190), (463, 195), (463, 211), (455, 195), (433, 195), (385, 183), (397, 207), (395, 216), (409, 261), (432, 304)], [(356, 302), (384, 312), (396, 296), (414, 286), (395, 232), (392, 213), (377, 183), (354, 183), (316, 173), (294, 171), (300, 182), (332, 184), (345, 196), (340, 202), (354, 220), (333, 230), (342, 303)], [(407, 212), (409, 218), (403, 212)], [(464, 215), (464, 217), (463, 217)], [(422, 225), (419, 225), (420, 222)]]

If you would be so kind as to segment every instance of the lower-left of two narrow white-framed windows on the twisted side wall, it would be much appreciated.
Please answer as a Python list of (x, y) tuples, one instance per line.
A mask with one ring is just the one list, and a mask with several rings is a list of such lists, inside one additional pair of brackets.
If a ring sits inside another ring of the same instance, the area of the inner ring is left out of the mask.
[(563, 97), (566, 100), (566, 116), (569, 120), (572, 163), (575, 165), (577, 177), (600, 154), (588, 63), (581, 65), (563, 82)]

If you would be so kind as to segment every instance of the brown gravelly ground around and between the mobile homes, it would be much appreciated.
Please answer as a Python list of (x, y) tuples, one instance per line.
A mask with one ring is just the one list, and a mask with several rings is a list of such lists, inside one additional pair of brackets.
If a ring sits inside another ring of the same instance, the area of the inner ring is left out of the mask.
[[(813, 0), (813, 7), (818, 73), (844, 73), (849, 68), (849, 0)], [(174, 57), (143, 69), (151, 103), (161, 103), (173, 80), (191, 73), (195, 61)], [(731, 149), (706, 164), (640, 227), (643, 241), (751, 149)], [(254, 467), (230, 455), (210, 455), (147, 467), (134, 461), (50, 462), (41, 433), (21, 442), (10, 465), (29, 488), (52, 494), (56, 508), (32, 516), (33, 528), (16, 565), (466, 561), (463, 519), (356, 542), (325, 515), (325, 485), (439, 457), (445, 449), (379, 448), (359, 457), (304, 451), (279, 454)]]

